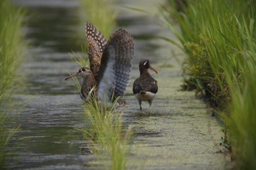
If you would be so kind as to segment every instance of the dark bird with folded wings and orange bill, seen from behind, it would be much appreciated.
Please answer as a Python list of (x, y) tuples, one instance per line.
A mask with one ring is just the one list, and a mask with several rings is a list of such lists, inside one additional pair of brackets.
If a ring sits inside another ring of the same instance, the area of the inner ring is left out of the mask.
[(140, 61), (140, 77), (135, 80), (133, 83), (132, 91), (135, 94), (135, 97), (137, 98), (139, 104), (140, 104), (140, 110), (141, 107), (141, 101), (148, 101), (149, 109), (151, 109), (151, 104), (154, 99), (154, 96), (156, 96), (158, 87), (157, 87), (157, 80), (154, 80), (153, 77), (148, 72), (148, 69), (153, 70), (157, 73), (157, 70), (154, 69), (150, 63), (149, 60), (142, 59)]

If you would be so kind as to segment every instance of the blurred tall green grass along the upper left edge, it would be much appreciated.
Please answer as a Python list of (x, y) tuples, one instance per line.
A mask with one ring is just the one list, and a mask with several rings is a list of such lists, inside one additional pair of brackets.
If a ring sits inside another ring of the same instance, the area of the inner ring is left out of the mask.
[[(0, 98), (8, 98), (22, 63), (20, 56), (23, 54), (23, 42), (20, 27), (24, 13), (10, 1), (3, 0), (0, 3)], [(0, 102), (5, 103), (3, 100)]]

